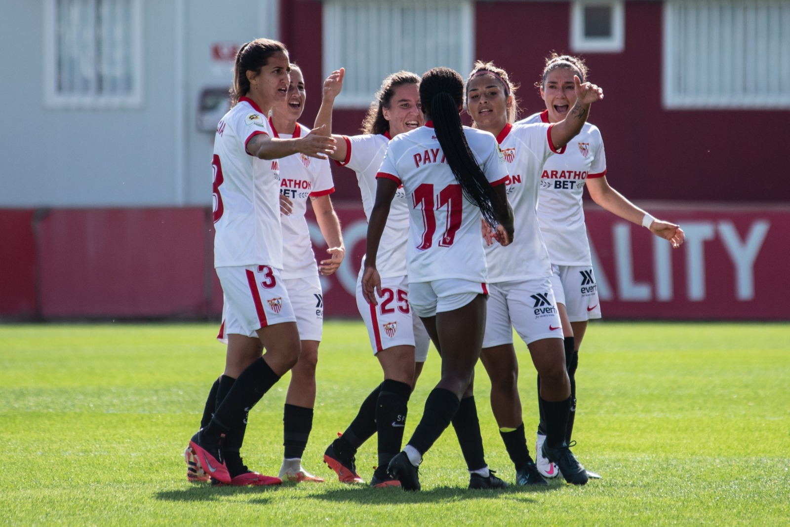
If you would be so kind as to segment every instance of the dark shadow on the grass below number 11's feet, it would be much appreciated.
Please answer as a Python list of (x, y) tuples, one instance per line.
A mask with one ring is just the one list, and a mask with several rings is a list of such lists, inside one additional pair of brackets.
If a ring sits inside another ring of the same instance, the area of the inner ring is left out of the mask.
[(363, 485), (348, 488), (333, 488), (325, 492), (305, 496), (329, 502), (358, 502), (364, 505), (386, 505), (389, 503), (458, 502), (465, 499), (518, 499), (536, 501), (529, 495), (559, 490), (559, 485), (548, 487), (519, 487), (511, 485), (503, 489), (468, 489), (458, 487), (435, 487), (419, 492), (406, 492), (400, 488), (371, 488)]

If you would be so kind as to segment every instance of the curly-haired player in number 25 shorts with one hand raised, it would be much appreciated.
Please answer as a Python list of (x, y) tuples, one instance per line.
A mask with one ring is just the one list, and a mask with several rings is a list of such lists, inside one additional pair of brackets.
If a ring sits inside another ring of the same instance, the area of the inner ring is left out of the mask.
[[(334, 99), (343, 88), (344, 73), (344, 69), (333, 72), (324, 84), (315, 126), (325, 125), (325, 133), (331, 131)], [(334, 136), (337, 150), (329, 157), (355, 171), (368, 218), (373, 208), (376, 172), (382, 164), (389, 140), (423, 125), (418, 84), (419, 77), (414, 73), (401, 71), (389, 75), (376, 93), (376, 101), (363, 122), (363, 135)], [(412, 317), (408, 304), (407, 236), (408, 205), (405, 194), (400, 192), (384, 226), (380, 252), (381, 304), (372, 306), (364, 300), (361, 270), (356, 290), (359, 314), (365, 321), (373, 353), (382, 366), (384, 381), (367, 396), (352, 423), (329, 445), (324, 455), (326, 464), (337, 473), (340, 481), (346, 483), (363, 482), (356, 473), (356, 450), (378, 432), (378, 469), (373, 474), (371, 485), (388, 487), (399, 484), (389, 476), (386, 467), (401, 450), (408, 398), (428, 353), (428, 335), (423, 324)]]

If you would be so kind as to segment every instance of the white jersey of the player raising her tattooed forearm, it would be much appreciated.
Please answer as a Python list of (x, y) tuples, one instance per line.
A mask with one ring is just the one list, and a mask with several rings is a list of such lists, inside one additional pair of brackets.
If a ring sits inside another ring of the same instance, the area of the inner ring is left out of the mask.
[(486, 247), (488, 281), (491, 283), (551, 276), (551, 261), (540, 236), (535, 210), (540, 170), (553, 153), (564, 151), (554, 150), (551, 126), (544, 123), (507, 124), (496, 138), (510, 174), (505, 185), (507, 200), (515, 215), (515, 235), (513, 243), (506, 247), (496, 242)]

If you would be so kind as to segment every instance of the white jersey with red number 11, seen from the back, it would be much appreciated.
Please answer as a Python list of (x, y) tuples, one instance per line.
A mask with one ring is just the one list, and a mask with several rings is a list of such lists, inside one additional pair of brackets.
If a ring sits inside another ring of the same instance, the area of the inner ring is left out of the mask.
[[(464, 132), (491, 185), (504, 183), (507, 167), (494, 136), (468, 127)], [(431, 121), (389, 142), (377, 177), (402, 184), (408, 196), (409, 283), (442, 278), (487, 281), (480, 209), (464, 197)]]

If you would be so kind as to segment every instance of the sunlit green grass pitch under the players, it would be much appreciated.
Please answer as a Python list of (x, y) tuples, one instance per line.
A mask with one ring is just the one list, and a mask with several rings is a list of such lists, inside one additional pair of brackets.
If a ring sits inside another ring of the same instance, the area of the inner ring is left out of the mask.
[[(361, 323), (325, 325), (304, 456), (325, 484), (210, 488), (182, 450), (224, 365), (215, 324), (0, 326), (3, 525), (788, 525), (790, 325), (596, 323), (581, 349), (574, 448), (585, 487), (469, 491), (452, 428), (420, 467), (423, 491), (348, 486), (326, 445), (380, 382)], [(530, 450), (535, 374), (521, 359)], [(438, 380), (431, 352), (406, 438)], [(288, 376), (250, 413), (247, 465), (276, 475)], [(487, 462), (513, 482), (478, 365)], [(369, 478), (375, 441), (357, 456)]]

